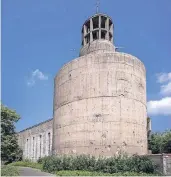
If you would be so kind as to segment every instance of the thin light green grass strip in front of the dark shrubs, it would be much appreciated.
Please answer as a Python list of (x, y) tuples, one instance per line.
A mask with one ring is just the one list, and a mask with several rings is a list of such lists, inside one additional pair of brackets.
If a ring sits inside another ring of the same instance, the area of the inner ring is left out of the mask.
[(124, 173), (102, 173), (102, 172), (90, 172), (81, 170), (62, 170), (56, 172), (57, 176), (156, 176), (154, 174), (136, 173), (136, 172), (124, 172)]

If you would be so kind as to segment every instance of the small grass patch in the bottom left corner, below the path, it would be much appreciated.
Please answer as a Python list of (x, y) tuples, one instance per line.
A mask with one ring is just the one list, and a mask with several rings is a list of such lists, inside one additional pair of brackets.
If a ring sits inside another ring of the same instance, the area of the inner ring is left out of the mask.
[(19, 170), (17, 167), (5, 165), (1, 167), (1, 176), (19, 176)]

